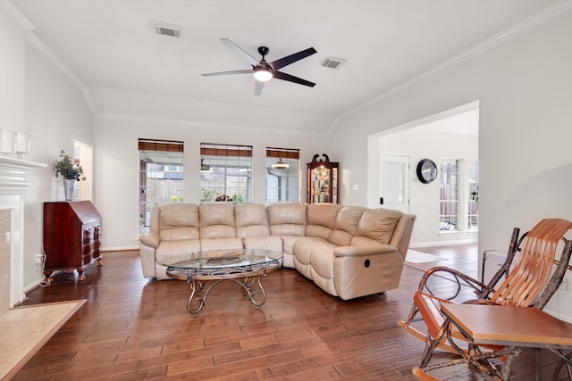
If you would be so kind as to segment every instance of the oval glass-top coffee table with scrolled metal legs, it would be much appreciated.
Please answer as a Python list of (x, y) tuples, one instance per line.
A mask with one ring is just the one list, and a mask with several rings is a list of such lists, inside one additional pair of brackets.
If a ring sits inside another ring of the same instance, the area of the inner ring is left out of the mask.
[[(279, 269), (282, 253), (262, 249), (211, 250), (174, 254), (162, 262), (167, 275), (187, 280), (190, 286), (187, 311), (197, 316), (205, 306), (206, 295), (223, 280), (230, 280), (245, 289), (248, 299), (259, 308), (266, 302), (262, 277)], [(212, 283), (206, 287), (206, 284)]]

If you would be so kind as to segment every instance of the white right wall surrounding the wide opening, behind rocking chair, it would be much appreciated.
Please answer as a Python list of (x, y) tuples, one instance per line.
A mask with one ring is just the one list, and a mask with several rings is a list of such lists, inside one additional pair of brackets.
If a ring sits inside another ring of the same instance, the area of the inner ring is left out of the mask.
[[(479, 101), (480, 251), (506, 248), (513, 227), (527, 230), (544, 217), (572, 219), (570, 36), (567, 12), (346, 115), (332, 140), (359, 186), (342, 194), (342, 203), (367, 199), (368, 136)], [(559, 302), (559, 313), (572, 317), (572, 294), (558, 297), (568, 301)]]

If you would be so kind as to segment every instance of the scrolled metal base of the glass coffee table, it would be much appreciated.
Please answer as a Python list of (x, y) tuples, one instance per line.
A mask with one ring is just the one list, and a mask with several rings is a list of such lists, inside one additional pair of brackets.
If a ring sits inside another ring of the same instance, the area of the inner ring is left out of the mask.
[[(210, 280), (200, 281), (189, 277), (188, 282), (190, 286), (190, 296), (189, 302), (187, 302), (187, 311), (192, 313), (194, 316), (197, 316), (198, 312), (201, 311), (205, 306), (206, 296), (208, 293), (210, 293), (214, 286), (223, 282), (223, 280), (230, 280), (231, 282), (242, 286), (244, 291), (247, 292), (247, 297), (250, 302), (257, 306), (257, 308), (260, 308), (260, 306), (266, 302), (266, 293), (264, 287), (262, 286), (262, 277), (265, 276), (266, 274), (260, 274), (252, 277), (243, 277), (242, 279), (224, 277), (221, 279), (212, 280), (213, 283), (211, 283), (208, 287), (206, 287), (206, 283)], [(255, 287), (254, 289), (253, 286)]]

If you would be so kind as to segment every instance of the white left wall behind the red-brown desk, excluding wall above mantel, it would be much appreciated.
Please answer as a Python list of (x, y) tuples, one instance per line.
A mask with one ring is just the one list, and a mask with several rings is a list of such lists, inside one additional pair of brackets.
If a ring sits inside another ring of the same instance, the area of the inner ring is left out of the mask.
[(60, 150), (73, 154), (73, 137), (93, 142), (93, 116), (80, 89), (29, 44), (25, 68), (25, 130), (31, 135), (26, 159), (48, 165), (34, 170), (26, 192), (24, 282), (32, 285), (42, 278), (35, 260), (42, 253), (43, 203), (56, 200), (61, 183), (55, 178), (55, 160)]

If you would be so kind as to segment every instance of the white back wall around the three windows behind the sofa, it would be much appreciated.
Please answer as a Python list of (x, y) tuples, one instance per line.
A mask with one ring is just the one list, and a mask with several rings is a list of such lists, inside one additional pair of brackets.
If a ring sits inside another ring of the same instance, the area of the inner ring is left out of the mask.
[(200, 144), (253, 145), (253, 203), (265, 203), (266, 147), (300, 150), (299, 200), (306, 202), (306, 163), (315, 153), (328, 153), (336, 161), (323, 136), (311, 133), (266, 132), (264, 129), (203, 126), (170, 120), (138, 118), (96, 120), (96, 200), (102, 214), (105, 250), (139, 247), (138, 139), (182, 140), (183, 192), (186, 203), (200, 203)]

